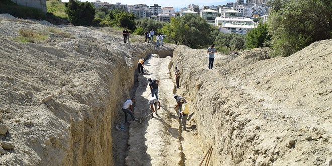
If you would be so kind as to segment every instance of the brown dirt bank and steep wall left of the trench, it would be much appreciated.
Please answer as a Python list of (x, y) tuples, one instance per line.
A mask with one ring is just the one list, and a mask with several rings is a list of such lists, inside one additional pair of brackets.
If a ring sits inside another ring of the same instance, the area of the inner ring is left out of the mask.
[(6, 38), (49, 27), (3, 20), (0, 28), (0, 164), (112, 165), (114, 114), (130, 98), (138, 59), (172, 49), (68, 26), (59, 29), (70, 37), (24, 44)]

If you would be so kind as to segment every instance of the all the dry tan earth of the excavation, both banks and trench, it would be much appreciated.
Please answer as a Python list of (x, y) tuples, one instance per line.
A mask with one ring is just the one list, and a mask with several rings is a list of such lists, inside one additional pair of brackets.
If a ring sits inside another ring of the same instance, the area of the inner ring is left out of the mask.
[[(217, 53), (209, 70), (206, 50), (2, 16), (0, 165), (199, 165), (210, 146), (211, 165), (332, 165), (332, 40), (287, 58)], [(20, 29), (49, 37), (20, 43)], [(136, 118), (149, 114), (149, 77), (161, 82), (159, 115), (117, 130), (126, 99), (136, 97)], [(174, 94), (189, 103), (187, 131)]]

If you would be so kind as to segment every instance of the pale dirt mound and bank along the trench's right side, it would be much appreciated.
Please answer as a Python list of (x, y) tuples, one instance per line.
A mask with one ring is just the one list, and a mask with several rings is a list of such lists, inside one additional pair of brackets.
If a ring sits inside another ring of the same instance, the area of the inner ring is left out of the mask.
[(213, 70), (205, 50), (174, 50), (213, 165), (331, 164), (331, 45), (319, 41), (287, 58), (269, 59), (266, 48), (216, 54)]

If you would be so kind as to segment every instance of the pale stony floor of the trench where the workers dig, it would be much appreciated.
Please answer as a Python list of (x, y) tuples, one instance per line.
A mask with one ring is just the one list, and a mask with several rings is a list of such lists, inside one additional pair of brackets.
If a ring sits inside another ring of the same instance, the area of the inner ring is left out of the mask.
[[(161, 108), (158, 116), (148, 116), (142, 124), (135, 121), (127, 124), (124, 131), (113, 131), (114, 165), (199, 165), (201, 162), (205, 152), (199, 148), (195, 136), (195, 114), (190, 109), (190, 102), (187, 131), (180, 130), (177, 111), (173, 108), (176, 104), (173, 95), (181, 95), (181, 89), (175, 89), (173, 74), (170, 73), (170, 68), (175, 66), (171, 65), (171, 57), (161, 58), (157, 54), (152, 54), (144, 62), (145, 73), (137, 75), (135, 117), (144, 118), (150, 113), (148, 78), (160, 81), (158, 97)], [(123, 123), (123, 113), (119, 114)]]

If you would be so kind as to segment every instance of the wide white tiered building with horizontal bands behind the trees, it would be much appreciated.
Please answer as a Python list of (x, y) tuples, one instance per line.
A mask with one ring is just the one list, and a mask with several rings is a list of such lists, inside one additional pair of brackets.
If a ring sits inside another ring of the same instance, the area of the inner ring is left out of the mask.
[(235, 10), (229, 10), (223, 13), (222, 17), (215, 19), (215, 26), (219, 26), (219, 29), (223, 33), (238, 33), (247, 34), (248, 31), (256, 27), (256, 23), (246, 17), (241, 16), (241, 12)]

